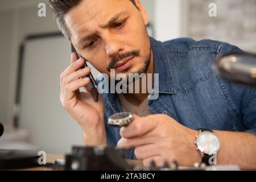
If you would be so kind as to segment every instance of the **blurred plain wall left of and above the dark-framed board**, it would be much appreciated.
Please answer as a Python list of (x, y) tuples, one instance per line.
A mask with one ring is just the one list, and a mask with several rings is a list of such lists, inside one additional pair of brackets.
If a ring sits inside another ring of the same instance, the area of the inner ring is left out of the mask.
[(3, 81), (1, 80), (0, 98), (3, 102), (0, 103), (0, 112), (3, 112), (3, 114), (0, 115), (0, 121), (7, 124), (10, 124), (13, 118), (20, 43), (30, 34), (58, 31), (49, 8), (46, 9), (46, 18), (40, 18), (37, 15), (39, 2), (47, 1), (0, 1), (0, 69), (5, 70), (1, 72), (5, 75), (1, 76)]

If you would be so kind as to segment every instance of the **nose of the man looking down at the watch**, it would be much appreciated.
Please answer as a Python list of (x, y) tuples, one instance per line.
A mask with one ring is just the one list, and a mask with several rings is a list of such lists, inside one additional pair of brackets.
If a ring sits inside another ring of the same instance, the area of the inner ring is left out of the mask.
[(123, 44), (118, 39), (108, 38), (105, 51), (108, 56), (118, 55), (123, 52)]

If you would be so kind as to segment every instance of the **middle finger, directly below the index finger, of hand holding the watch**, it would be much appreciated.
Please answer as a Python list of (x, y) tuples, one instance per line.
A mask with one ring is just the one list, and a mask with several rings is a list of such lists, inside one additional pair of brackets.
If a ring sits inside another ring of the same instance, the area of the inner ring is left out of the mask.
[(138, 146), (144, 146), (146, 144), (152, 144), (155, 142), (156, 137), (152, 136), (152, 137), (148, 137), (148, 136), (143, 136), (143, 137), (135, 137), (135, 138), (121, 138), (118, 143), (117, 146), (118, 148), (131, 148), (131, 147), (138, 147)]

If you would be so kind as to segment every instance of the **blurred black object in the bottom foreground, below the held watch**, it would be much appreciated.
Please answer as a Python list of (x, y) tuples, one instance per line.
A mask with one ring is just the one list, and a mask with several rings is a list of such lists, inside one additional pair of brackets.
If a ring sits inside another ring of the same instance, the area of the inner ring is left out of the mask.
[(67, 171), (116, 171), (133, 168), (125, 161), (125, 150), (115, 147), (74, 146), (72, 154), (65, 156), (64, 169)]

